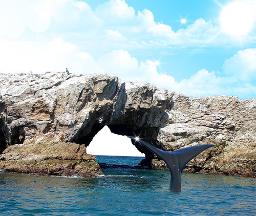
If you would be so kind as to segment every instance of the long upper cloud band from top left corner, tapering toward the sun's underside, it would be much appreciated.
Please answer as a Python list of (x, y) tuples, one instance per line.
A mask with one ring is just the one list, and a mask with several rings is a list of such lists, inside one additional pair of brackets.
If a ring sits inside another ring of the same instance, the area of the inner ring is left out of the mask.
[[(6, 8), (0, 13), (1, 20), (6, 20), (0, 24), (0, 34), (16, 37), (28, 26), (35, 32), (47, 30), (41, 36), (47, 35), (48, 40), (59, 37), (77, 46), (84, 44), (87, 52), (92, 49), (101, 52), (102, 48), (109, 52), (112, 47), (134, 50), (230, 46), (231, 38), (211, 20), (200, 18), (175, 32), (168, 25), (156, 23), (150, 10), (136, 14), (123, 0), (110, 0), (95, 10), (77, 0), (25, 1), (23, 4), (2, 1), (0, 8)], [(109, 41), (105, 42), (105, 38)], [(255, 36), (250, 34), (243, 40), (251, 42)], [(238, 45), (238, 41), (231, 40), (231, 43)]]

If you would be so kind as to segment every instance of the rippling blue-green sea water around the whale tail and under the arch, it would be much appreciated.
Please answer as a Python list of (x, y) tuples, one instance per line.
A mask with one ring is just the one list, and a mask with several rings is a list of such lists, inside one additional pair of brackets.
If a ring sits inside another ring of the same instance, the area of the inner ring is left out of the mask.
[[(142, 158), (98, 156), (137, 165)], [(164, 170), (106, 168), (94, 179), (0, 172), (0, 215), (256, 215), (253, 178), (182, 174), (179, 195)]]

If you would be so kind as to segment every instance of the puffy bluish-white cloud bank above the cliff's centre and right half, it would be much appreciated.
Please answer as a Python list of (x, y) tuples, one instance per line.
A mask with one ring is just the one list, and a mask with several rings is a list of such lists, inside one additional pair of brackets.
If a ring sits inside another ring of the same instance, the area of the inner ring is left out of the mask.
[[(255, 49), (239, 51), (224, 62), (225, 76), (202, 69), (188, 79), (177, 82), (173, 76), (160, 73), (155, 62), (148, 59), (139, 62), (127, 51), (115, 50), (102, 55), (98, 60), (103, 71), (115, 74), (124, 81), (146, 81), (158, 88), (180, 92), (186, 96), (238, 95), (240, 99), (256, 97), (255, 79), (254, 82), (251, 81), (255, 78), (255, 62)], [(245, 68), (244, 73), (238, 66)]]

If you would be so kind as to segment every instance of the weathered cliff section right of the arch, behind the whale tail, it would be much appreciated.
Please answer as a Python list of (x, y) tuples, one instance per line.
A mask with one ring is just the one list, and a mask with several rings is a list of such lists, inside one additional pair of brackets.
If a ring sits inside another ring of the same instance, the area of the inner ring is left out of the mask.
[[(168, 125), (160, 128), (157, 146), (173, 150), (199, 144), (216, 147), (201, 153), (184, 169), (216, 174), (255, 177), (256, 100), (211, 96), (172, 95)], [(152, 167), (166, 169), (156, 157)]]

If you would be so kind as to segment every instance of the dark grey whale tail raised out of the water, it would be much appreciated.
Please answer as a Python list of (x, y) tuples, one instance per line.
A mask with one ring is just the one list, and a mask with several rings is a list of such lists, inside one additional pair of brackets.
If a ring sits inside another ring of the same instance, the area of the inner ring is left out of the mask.
[[(131, 139), (136, 140), (136, 137), (127, 136)], [(165, 152), (159, 148), (154, 147), (146, 143), (145, 141), (139, 139), (136, 140), (141, 145), (145, 146), (147, 149), (151, 150), (151, 152), (155, 153), (159, 158), (161, 158), (168, 166), (170, 170), (170, 175), (172, 176), (170, 180), (170, 190), (174, 193), (180, 193), (181, 191), (181, 173), (191, 159), (195, 158), (201, 152), (209, 147), (213, 147), (215, 145), (206, 144), (206, 145), (197, 145), (191, 146), (187, 148), (182, 148), (179, 150), (175, 150), (172, 153)]]

